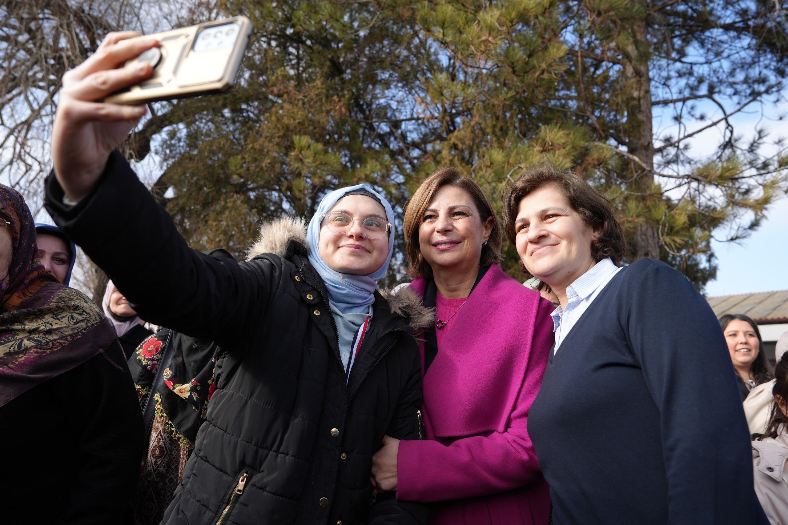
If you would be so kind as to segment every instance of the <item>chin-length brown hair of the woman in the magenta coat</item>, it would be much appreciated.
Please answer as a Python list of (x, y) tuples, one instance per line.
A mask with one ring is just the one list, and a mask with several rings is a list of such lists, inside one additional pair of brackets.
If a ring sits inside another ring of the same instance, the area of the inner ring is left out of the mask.
[(433, 277), (432, 266), (429, 266), (429, 263), (424, 259), (421, 245), (418, 243), (418, 227), (422, 225), (424, 210), (429, 206), (429, 201), (433, 199), (435, 192), (444, 186), (454, 186), (465, 190), (470, 198), (474, 199), (481, 222), (486, 222), (488, 218), (492, 217), (492, 232), (490, 232), (487, 244), (481, 247), (479, 261), (481, 266), (500, 263), (504, 259), (500, 253), (500, 245), (503, 240), (500, 233), (500, 222), (485, 192), (476, 184), (476, 181), (464, 176), (456, 169), (441, 168), (419, 185), (405, 208), (403, 233), (405, 234), (405, 256), (407, 263), (411, 266), (408, 274), (411, 277)]

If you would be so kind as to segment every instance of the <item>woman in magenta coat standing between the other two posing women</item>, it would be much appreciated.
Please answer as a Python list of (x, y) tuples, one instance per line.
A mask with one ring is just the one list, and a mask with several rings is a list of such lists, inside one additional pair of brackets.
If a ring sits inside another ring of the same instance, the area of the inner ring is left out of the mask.
[(552, 304), (507, 276), (501, 228), (455, 169), (424, 181), (404, 218), (411, 288), (436, 307), (420, 344), (425, 440), (384, 438), (377, 490), (435, 502), (429, 523), (548, 523), (527, 420), (553, 343)]

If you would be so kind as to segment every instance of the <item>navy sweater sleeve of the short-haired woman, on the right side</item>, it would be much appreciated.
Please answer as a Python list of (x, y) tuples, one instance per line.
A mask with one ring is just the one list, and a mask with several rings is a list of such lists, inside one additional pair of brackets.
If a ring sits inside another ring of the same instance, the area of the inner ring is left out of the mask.
[(677, 270), (652, 260), (635, 265), (641, 275), (622, 322), (660, 410), (669, 522), (753, 523), (763, 511), (719, 322)]

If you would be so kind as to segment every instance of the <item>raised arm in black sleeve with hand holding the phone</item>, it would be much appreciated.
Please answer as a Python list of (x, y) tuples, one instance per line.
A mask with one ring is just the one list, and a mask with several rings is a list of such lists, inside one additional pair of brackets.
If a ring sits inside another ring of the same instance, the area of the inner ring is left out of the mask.
[(95, 54), (63, 77), (46, 209), (147, 321), (221, 339), (232, 348), (236, 329), (265, 311), (278, 267), (266, 261), (220, 261), (188, 248), (114, 150), (145, 108), (96, 101), (151, 74), (146, 63), (120, 67), (158, 45), (150, 39), (128, 40), (135, 35), (110, 33)]

